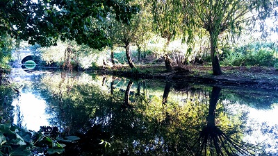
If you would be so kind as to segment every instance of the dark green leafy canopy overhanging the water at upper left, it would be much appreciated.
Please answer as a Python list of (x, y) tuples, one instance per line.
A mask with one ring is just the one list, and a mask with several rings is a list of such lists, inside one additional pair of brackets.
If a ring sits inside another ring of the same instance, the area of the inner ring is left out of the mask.
[(76, 40), (95, 49), (106, 46), (104, 29), (97, 21), (105, 19), (108, 13), (128, 24), (136, 6), (128, 1), (48, 1), (30, 0), (1, 1), (1, 34), (37, 42), (42, 46), (56, 44), (57, 40)]

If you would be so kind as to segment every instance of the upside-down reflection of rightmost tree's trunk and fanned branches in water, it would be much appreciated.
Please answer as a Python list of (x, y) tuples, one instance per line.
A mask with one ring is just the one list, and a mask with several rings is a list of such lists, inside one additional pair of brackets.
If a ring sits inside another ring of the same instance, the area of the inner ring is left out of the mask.
[(220, 96), (220, 87), (213, 87), (208, 107), (206, 125), (199, 132), (199, 137), (190, 146), (188, 155), (255, 155), (256, 146), (234, 137), (236, 130), (220, 130), (215, 125), (215, 111)]

